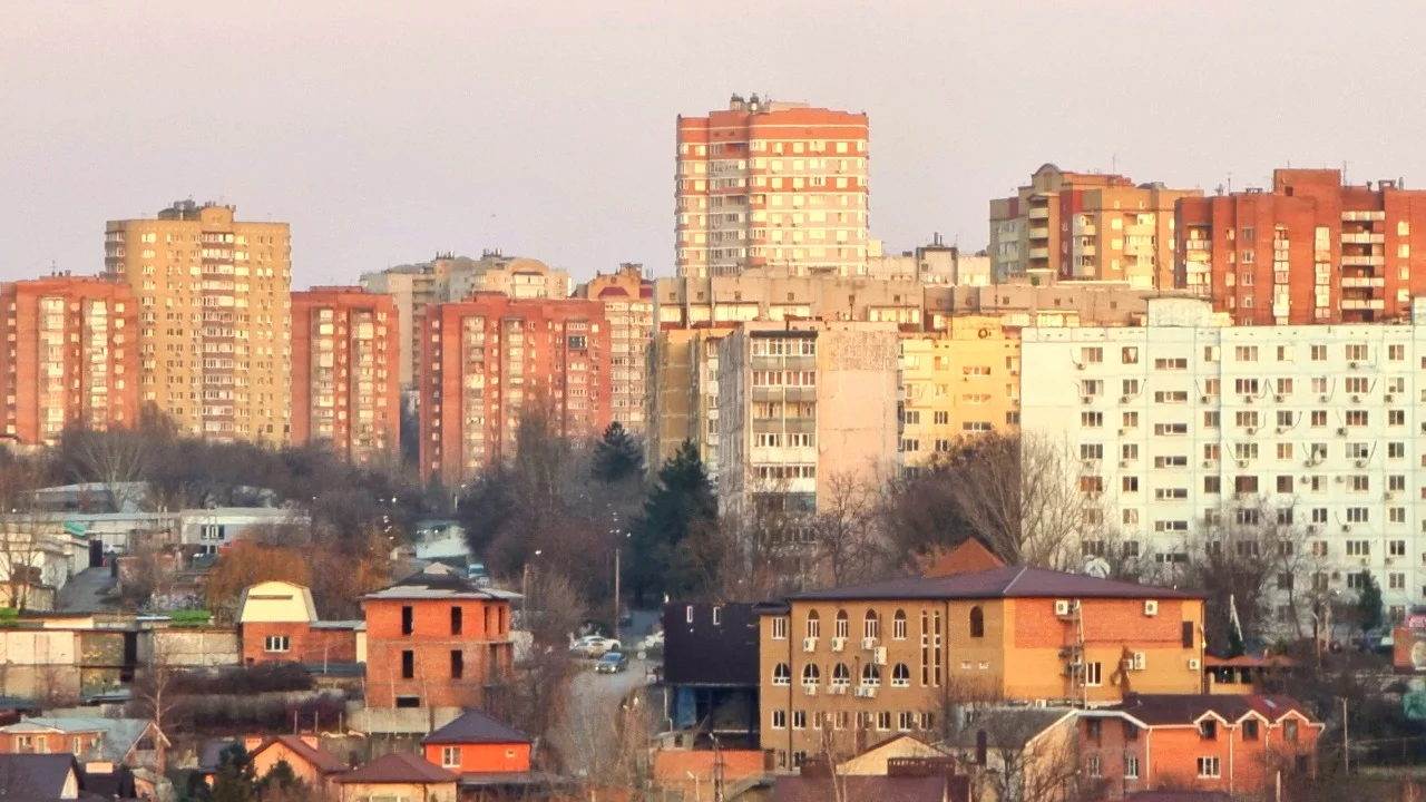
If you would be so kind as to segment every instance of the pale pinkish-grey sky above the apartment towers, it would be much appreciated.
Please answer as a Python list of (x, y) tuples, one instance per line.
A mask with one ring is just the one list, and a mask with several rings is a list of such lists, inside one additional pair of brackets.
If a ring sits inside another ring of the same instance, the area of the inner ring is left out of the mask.
[(501, 248), (672, 274), (674, 123), (866, 111), (871, 235), (987, 240), (1042, 163), (1426, 187), (1426, 3), (0, 0), (0, 280), (181, 198), (292, 225), (294, 288)]

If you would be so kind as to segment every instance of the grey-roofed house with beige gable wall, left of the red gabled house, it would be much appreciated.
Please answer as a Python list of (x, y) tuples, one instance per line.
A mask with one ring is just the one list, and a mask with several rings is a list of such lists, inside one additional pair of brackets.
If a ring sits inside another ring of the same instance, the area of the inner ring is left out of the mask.
[(961, 705), (948, 719), (937, 748), (970, 775), (978, 802), (1075, 798), (1079, 743), (1072, 708)]

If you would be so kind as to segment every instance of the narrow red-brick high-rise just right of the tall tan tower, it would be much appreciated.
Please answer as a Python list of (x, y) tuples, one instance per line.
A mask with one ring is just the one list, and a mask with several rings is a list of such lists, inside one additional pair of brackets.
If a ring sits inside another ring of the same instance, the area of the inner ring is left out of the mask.
[(391, 295), (359, 287), (292, 293), (292, 442), (355, 462), (395, 452), (401, 337)]

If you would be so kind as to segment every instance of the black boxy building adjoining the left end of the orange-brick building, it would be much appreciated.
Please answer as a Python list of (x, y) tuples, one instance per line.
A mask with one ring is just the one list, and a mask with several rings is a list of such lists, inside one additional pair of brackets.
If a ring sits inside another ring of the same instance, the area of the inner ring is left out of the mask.
[(697, 728), (724, 748), (757, 746), (757, 621), (752, 604), (663, 605), (663, 682), (674, 731)]

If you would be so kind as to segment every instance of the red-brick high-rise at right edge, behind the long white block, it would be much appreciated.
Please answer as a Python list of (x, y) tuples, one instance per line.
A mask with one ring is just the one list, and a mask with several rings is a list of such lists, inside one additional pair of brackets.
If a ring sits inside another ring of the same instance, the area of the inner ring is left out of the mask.
[(1426, 294), (1426, 191), (1275, 170), (1272, 191), (1185, 198), (1178, 283), (1242, 324), (1376, 323)]

